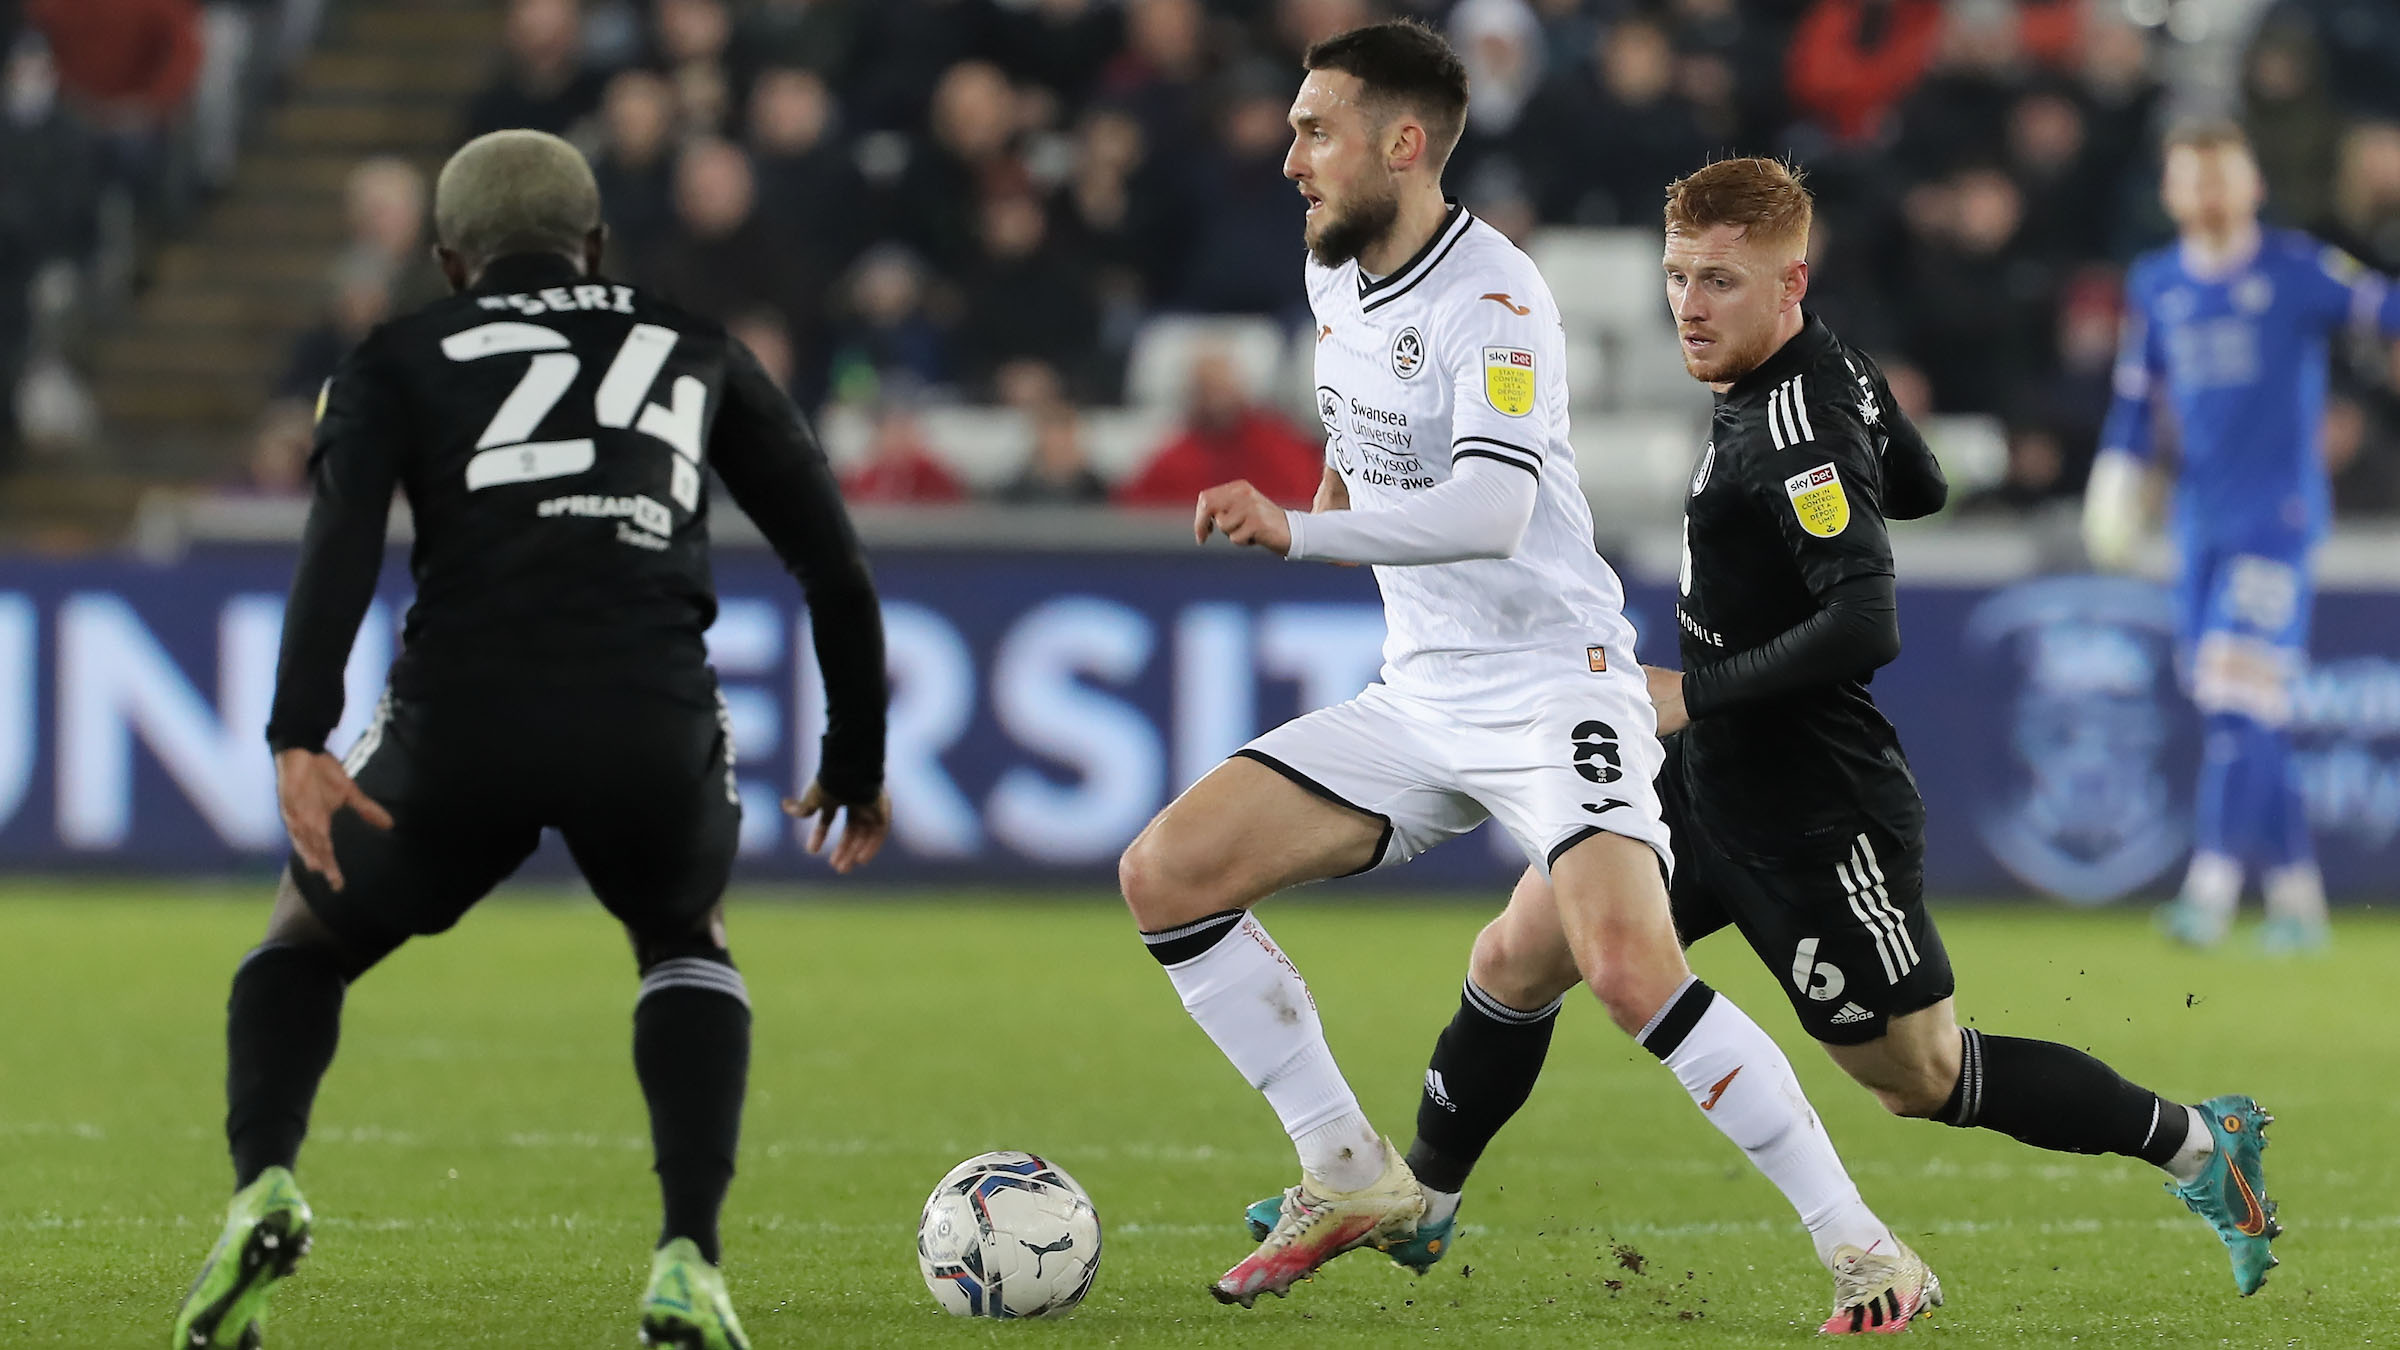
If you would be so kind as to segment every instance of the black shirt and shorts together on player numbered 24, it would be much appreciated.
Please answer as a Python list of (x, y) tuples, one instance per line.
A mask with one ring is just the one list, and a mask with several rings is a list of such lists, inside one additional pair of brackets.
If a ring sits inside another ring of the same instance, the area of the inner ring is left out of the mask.
[(814, 435), (722, 324), (518, 255), (350, 353), (317, 423), (269, 742), (322, 749), (341, 718), (394, 490), (415, 516), (415, 603), (350, 749), (396, 826), (336, 814), (343, 891), (293, 860), (329, 927), (365, 951), (442, 932), (545, 826), (636, 932), (718, 903), (739, 802), (701, 639), (710, 471), (806, 591), (828, 706), (818, 778), (871, 802), (874, 584)]

